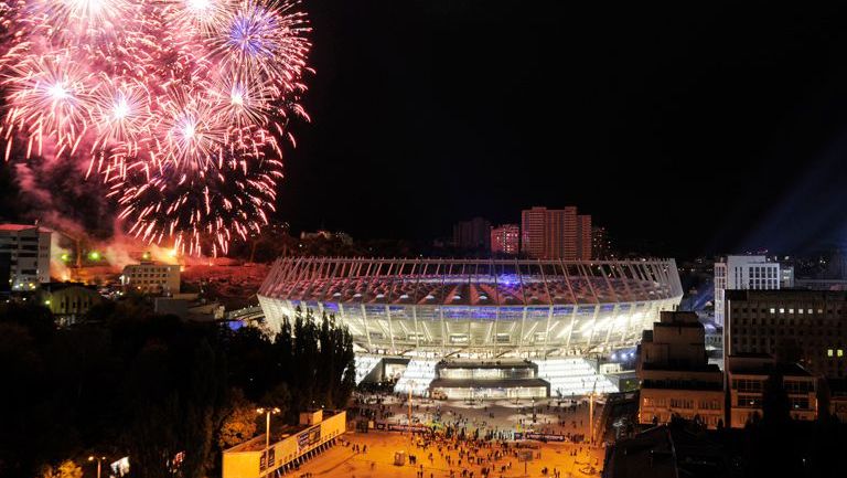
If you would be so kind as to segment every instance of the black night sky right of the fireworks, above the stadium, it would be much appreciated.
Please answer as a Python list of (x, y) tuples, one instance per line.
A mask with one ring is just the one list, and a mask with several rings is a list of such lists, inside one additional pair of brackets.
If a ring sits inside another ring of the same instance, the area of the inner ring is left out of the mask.
[(656, 253), (840, 243), (847, 7), (571, 3), (307, 1), (280, 217), (427, 238), (575, 204)]

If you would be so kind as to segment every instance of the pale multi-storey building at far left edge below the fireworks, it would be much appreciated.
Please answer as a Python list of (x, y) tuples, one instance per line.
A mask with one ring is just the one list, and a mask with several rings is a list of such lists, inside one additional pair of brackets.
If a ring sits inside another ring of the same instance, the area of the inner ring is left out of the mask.
[(44, 227), (0, 224), (0, 254), (9, 254), (12, 290), (33, 290), (50, 282), (50, 235)]

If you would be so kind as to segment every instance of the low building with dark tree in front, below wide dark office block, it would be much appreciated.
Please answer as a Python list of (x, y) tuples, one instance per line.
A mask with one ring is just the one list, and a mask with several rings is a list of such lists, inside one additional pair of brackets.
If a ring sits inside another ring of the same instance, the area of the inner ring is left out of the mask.
[(727, 359), (730, 425), (742, 428), (762, 417), (766, 382), (782, 380), (794, 419), (817, 418), (817, 379), (796, 363), (779, 363), (765, 353), (730, 355)]

